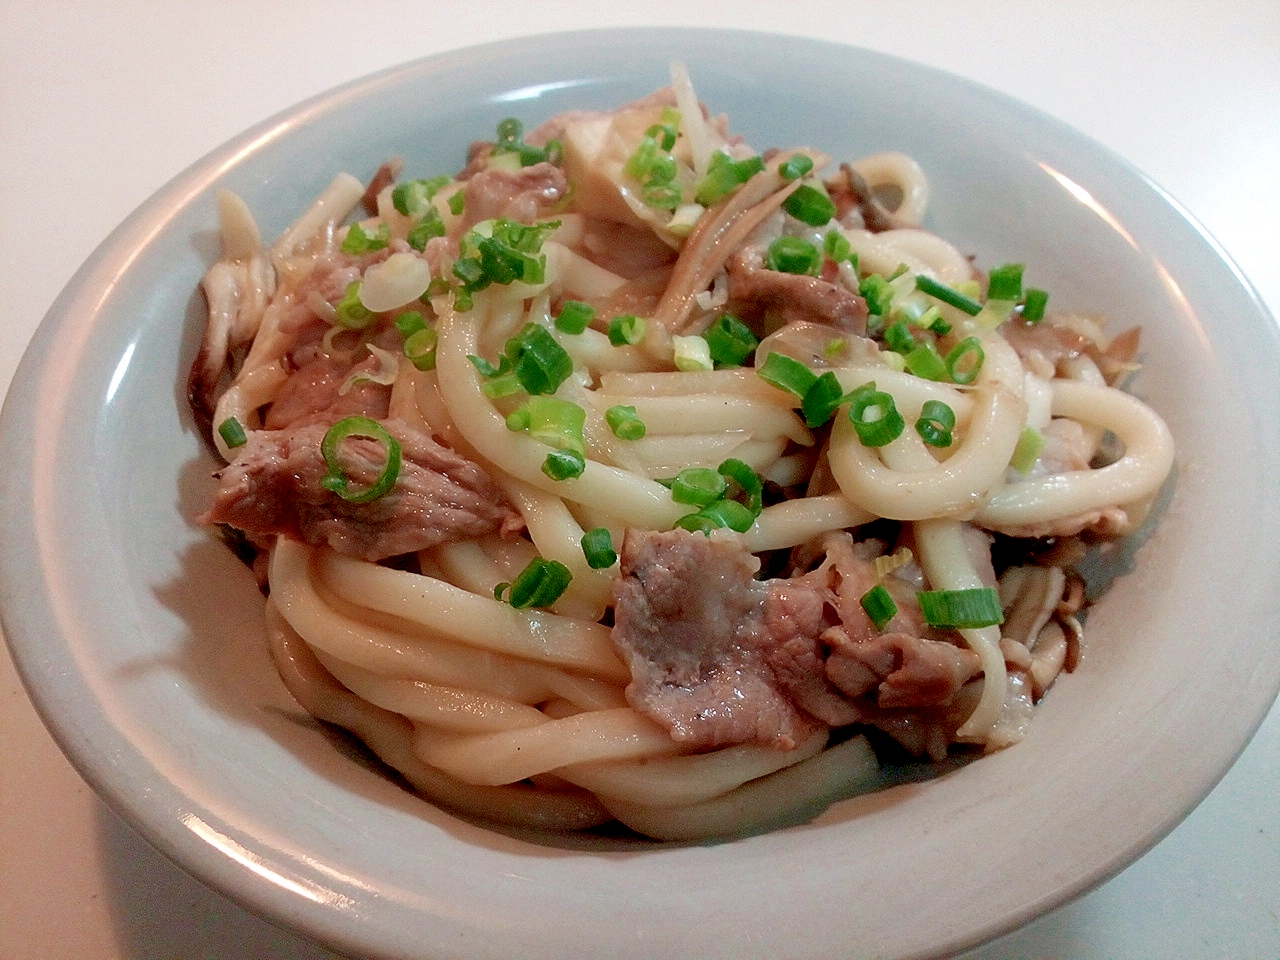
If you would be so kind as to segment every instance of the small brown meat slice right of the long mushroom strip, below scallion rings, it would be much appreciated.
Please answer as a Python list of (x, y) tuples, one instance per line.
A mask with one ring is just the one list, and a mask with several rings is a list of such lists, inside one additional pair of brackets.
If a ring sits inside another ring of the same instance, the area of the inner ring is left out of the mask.
[(742, 314), (762, 314), (769, 328), (809, 321), (867, 333), (867, 301), (832, 279), (769, 270), (759, 247), (740, 250), (726, 269), (730, 302)]

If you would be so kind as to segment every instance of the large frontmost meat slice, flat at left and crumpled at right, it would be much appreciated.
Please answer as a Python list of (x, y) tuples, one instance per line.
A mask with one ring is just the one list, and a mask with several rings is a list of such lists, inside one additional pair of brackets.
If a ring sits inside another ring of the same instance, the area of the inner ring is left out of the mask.
[(724, 531), (627, 531), (613, 644), (631, 669), (631, 705), (699, 748), (788, 748), (815, 724), (951, 710), (977, 654), (902, 632), (920, 618), (897, 588), (899, 616), (876, 630), (856, 600), (874, 582), (865, 545), (832, 534), (822, 547), (815, 570), (759, 581), (756, 558)]

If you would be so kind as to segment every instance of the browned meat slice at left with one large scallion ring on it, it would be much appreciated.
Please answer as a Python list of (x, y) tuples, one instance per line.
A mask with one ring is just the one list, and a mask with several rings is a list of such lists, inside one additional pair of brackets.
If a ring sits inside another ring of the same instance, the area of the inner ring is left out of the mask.
[[(520, 527), (520, 515), (489, 475), (471, 461), (399, 421), (384, 426), (399, 440), (396, 486), (371, 503), (349, 503), (325, 490), (320, 442), (329, 422), (259, 431), (218, 472), (206, 524), (229, 524), (253, 539), (283, 534), (339, 553), (376, 561), (440, 543)], [(347, 476), (372, 483), (385, 451), (372, 440), (343, 445)]]

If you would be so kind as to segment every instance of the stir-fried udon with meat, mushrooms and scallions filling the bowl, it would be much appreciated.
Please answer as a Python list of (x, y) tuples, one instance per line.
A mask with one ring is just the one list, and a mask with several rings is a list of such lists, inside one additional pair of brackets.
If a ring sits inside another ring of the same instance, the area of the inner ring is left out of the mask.
[(1025, 735), (1171, 467), (1134, 330), (678, 65), (438, 174), (340, 174), (270, 246), (219, 198), (204, 520), (310, 713), (449, 809), (657, 838)]

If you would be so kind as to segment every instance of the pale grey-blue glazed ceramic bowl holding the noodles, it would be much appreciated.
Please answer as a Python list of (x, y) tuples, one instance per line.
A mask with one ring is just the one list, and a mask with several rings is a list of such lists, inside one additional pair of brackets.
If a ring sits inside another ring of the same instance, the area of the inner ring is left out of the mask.
[[(929, 224), (1028, 264), (1055, 306), (1143, 326), (1135, 392), (1176, 485), (1021, 745), (732, 844), (552, 846), (461, 822), (353, 762), (269, 663), (261, 598), (191, 517), (212, 462), (184, 404), (227, 186), (273, 236), (339, 170), (457, 169), (517, 115), (608, 108), (686, 61), (758, 147), (914, 155)], [(180, 174), (45, 319), (0, 422), (4, 628), (84, 778), (248, 908), (376, 957), (924, 957), (1119, 870), (1217, 782), (1280, 685), (1276, 326), (1179, 207), (1060, 123), (972, 83), (810, 40), (543, 36), (325, 93)]]

